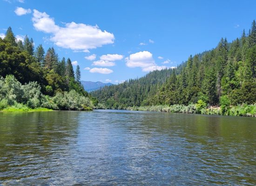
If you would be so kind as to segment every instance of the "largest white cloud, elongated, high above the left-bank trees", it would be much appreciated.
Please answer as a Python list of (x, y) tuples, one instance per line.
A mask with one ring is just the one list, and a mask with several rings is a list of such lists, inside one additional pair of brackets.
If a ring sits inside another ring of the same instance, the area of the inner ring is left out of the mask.
[(114, 43), (114, 34), (106, 30), (101, 31), (97, 25), (91, 26), (71, 22), (66, 23), (64, 27), (60, 27), (47, 13), (41, 13), (35, 9), (33, 11), (34, 28), (38, 31), (50, 33), (50, 40), (57, 46), (78, 52), (89, 52), (89, 49)]

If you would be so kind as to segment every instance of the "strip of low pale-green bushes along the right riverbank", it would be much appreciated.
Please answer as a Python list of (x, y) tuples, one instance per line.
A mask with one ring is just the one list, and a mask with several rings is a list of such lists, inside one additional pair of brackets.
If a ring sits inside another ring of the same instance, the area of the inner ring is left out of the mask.
[(188, 106), (185, 106), (185, 105), (133, 106), (133, 107), (127, 107), (126, 110), (256, 117), (256, 104), (253, 104), (253, 105), (243, 104), (238, 106), (229, 106), (228, 108), (227, 107), (226, 108), (221, 108), (221, 107), (198, 108), (196, 104), (191, 104)]

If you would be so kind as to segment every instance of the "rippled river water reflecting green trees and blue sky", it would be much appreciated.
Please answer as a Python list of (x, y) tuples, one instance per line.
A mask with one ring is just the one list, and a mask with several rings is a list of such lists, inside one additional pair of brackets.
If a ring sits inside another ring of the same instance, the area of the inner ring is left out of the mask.
[(0, 185), (256, 185), (256, 118), (0, 113)]

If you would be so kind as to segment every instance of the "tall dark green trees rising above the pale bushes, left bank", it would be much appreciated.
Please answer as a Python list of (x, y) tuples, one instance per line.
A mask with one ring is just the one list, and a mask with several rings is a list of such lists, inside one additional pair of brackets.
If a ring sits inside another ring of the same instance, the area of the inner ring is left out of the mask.
[(64, 57), (60, 60), (54, 47), (46, 53), (41, 44), (34, 49), (34, 41), (27, 35), (24, 42), (17, 41), (11, 27), (7, 29), (4, 39), (0, 38), (0, 76), (10, 74), (22, 84), (37, 81), (46, 95), (53, 96), (57, 92), (74, 89), (88, 96), (80, 83), (79, 66), (74, 72), (71, 60)]

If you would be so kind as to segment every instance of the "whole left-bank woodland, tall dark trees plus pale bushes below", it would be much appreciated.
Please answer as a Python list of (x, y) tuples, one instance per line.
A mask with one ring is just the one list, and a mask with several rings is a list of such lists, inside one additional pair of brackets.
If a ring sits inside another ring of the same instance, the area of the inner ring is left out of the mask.
[(59, 56), (54, 48), (45, 53), (33, 39), (16, 40), (12, 28), (0, 38), (0, 110), (8, 107), (54, 110), (88, 110), (92, 101), (74, 72), (71, 60)]

